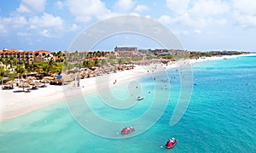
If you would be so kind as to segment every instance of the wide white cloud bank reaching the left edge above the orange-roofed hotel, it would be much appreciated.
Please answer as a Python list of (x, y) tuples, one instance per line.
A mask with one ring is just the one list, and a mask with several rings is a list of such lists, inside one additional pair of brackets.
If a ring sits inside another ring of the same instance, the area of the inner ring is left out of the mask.
[(33, 16), (26, 20), (26, 17), (16, 15), (7, 18), (0, 18), (1, 33), (17, 37), (38, 37), (37, 33), (44, 37), (58, 37), (63, 33), (63, 20), (52, 14)]

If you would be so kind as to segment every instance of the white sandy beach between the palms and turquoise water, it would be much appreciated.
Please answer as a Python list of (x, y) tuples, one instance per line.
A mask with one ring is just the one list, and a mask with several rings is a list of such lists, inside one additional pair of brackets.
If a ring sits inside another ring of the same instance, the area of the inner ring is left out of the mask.
[[(240, 54), (240, 55), (227, 55), (227, 56), (213, 56), (205, 59), (189, 59), (191, 66), (195, 63), (219, 60), (219, 59), (233, 59), (240, 56), (249, 56), (252, 54)], [(155, 65), (155, 64), (154, 64)], [(147, 66), (154, 66), (147, 65)], [(160, 64), (158, 64), (160, 65)], [(146, 65), (136, 65), (134, 69), (117, 71), (116, 73), (105, 74), (99, 77), (108, 77), (108, 82), (102, 82), (100, 84), (102, 88), (111, 88), (116, 83), (132, 82), (146, 75), (150, 75)], [(177, 68), (176, 64), (165, 65), (166, 69)], [(80, 79), (80, 89), (85, 94), (96, 92), (96, 80), (99, 77), (90, 77)], [(113, 83), (116, 82), (116, 83)], [(98, 82), (97, 82), (98, 83)], [(73, 86), (73, 82), (70, 82), (67, 87)], [(0, 122), (15, 118), (17, 116), (23, 116), (32, 111), (36, 111), (43, 107), (54, 105), (56, 103), (64, 102), (65, 95), (62, 86), (48, 85), (47, 88), (38, 88), (38, 90), (32, 90), (31, 93), (14, 93), (15, 90), (21, 90), (21, 88), (15, 88), (14, 90), (1, 90), (0, 98), (4, 99), (0, 102)], [(73, 95), (75, 97), (75, 95)]]

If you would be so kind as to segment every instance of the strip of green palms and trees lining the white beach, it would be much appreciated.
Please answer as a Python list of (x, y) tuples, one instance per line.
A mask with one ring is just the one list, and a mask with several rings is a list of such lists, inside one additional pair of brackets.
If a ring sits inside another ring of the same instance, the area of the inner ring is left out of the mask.
[[(244, 54), (244, 52), (236, 51), (212, 51), (212, 52), (187, 52), (180, 50), (172, 50), (161, 54), (145, 54), (134, 57), (119, 57), (113, 52), (78, 52), (64, 54), (61, 51), (53, 53), (55, 60), (51, 58), (49, 61), (42, 61), (38, 63), (25, 63), (25, 59), (18, 61), (15, 57), (10, 57), (9, 59), (0, 58), (0, 62), (3, 65), (9, 65), (15, 71), (9, 71), (0, 66), (0, 80), (3, 78), (6, 80), (12, 80), (15, 77), (25, 76), (31, 72), (37, 72), (38, 74), (46, 74), (48, 76), (59, 73), (61, 71), (72, 70), (74, 67), (77, 68), (91, 68), (93, 66), (102, 65), (124, 65), (131, 64), (132, 62), (150, 60), (150, 59), (181, 59), (181, 58), (191, 58), (196, 59), (200, 57), (211, 57), (219, 55), (233, 55), (233, 54)], [(38, 56), (39, 54), (35, 54)], [(48, 57), (49, 54), (42, 54), (43, 57)], [(18, 57), (19, 58), (19, 57)]]

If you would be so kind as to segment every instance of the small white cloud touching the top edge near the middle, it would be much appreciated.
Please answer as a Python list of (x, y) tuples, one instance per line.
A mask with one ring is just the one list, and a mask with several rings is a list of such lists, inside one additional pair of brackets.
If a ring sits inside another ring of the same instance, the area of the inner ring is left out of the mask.
[(132, 0), (119, 0), (114, 3), (113, 11), (117, 13), (127, 14), (131, 11), (135, 3)]

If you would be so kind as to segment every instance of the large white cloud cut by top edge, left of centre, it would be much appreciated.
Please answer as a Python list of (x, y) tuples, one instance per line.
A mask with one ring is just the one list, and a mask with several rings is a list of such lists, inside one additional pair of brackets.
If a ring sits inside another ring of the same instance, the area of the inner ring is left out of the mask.
[(88, 22), (93, 17), (101, 19), (102, 16), (110, 14), (101, 0), (67, 0), (67, 7), (80, 22)]

